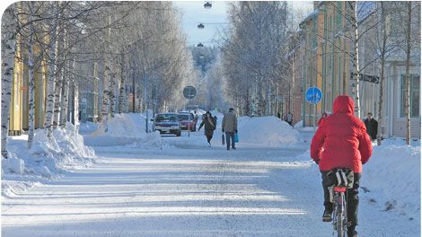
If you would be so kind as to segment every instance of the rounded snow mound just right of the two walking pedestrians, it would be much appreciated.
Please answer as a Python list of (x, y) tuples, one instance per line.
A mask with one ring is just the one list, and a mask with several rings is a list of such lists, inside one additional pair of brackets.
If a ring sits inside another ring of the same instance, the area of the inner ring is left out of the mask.
[(239, 142), (268, 146), (295, 145), (300, 134), (277, 117), (241, 117), (238, 119)]

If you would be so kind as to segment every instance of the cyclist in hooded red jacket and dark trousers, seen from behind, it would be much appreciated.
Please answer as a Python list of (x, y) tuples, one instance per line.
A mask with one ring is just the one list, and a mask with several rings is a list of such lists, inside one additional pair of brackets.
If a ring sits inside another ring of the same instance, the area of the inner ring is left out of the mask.
[(322, 221), (330, 222), (333, 211), (328, 187), (334, 185), (328, 172), (334, 168), (351, 169), (354, 185), (347, 190), (347, 236), (355, 237), (357, 225), (357, 206), (359, 203), (359, 180), (362, 164), (368, 162), (372, 154), (372, 143), (366, 134), (365, 124), (354, 116), (355, 103), (347, 95), (340, 95), (333, 103), (333, 113), (322, 119), (312, 138), (311, 157), (319, 164), (324, 189), (324, 214)]

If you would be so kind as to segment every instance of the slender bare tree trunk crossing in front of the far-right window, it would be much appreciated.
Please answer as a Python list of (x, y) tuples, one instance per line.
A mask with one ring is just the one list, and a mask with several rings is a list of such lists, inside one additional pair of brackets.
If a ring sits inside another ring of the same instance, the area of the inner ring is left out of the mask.
[(405, 114), (406, 114), (406, 145), (410, 145), (410, 75), (409, 75), (409, 67), (410, 67), (410, 33), (411, 33), (411, 14), (412, 14), (412, 2), (407, 2), (408, 4), (408, 19), (406, 22), (406, 76), (404, 78), (404, 106), (405, 106)]

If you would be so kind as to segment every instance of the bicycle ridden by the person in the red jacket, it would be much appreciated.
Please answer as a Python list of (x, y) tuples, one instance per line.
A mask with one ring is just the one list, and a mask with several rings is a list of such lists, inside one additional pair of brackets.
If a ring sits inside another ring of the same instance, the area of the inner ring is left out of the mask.
[(347, 233), (347, 189), (353, 187), (353, 171), (348, 168), (333, 170), (335, 185), (332, 187), (333, 217), (332, 225), (334, 233), (338, 237), (345, 237)]

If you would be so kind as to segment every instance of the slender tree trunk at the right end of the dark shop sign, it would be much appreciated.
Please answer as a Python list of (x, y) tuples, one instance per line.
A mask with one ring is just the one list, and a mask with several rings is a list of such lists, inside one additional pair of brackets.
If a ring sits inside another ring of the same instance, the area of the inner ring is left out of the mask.
[(381, 145), (382, 138), (382, 99), (383, 99), (383, 85), (384, 85), (384, 68), (385, 68), (385, 51), (387, 45), (387, 26), (385, 18), (384, 3), (381, 2), (381, 14), (382, 14), (382, 48), (381, 48), (381, 74), (380, 74), (380, 99), (378, 102), (378, 134), (376, 135), (377, 145)]

